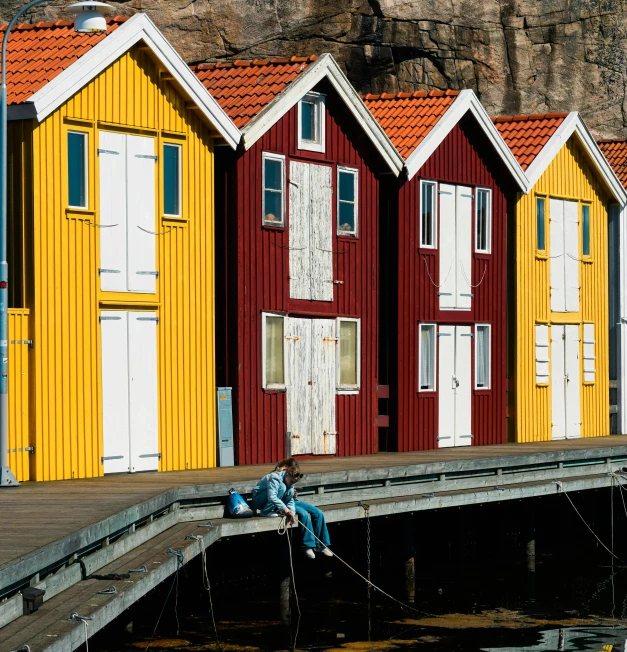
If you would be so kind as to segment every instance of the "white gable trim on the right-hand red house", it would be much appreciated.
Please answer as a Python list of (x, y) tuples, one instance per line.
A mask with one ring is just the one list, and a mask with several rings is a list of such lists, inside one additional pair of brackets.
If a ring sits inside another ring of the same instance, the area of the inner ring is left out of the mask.
[(479, 126), (494, 146), (501, 157), (505, 167), (509, 170), (518, 187), (527, 192), (527, 177), (512, 154), (511, 150), (503, 140), (501, 134), (494, 126), (490, 116), (483, 108), (479, 99), (471, 90), (463, 90), (457, 96), (453, 104), (440, 118), (435, 127), (427, 134), (420, 145), (409, 155), (405, 162), (407, 178), (411, 179), (425, 164), (427, 159), (435, 152), (442, 141), (450, 133), (453, 127), (470, 111)]

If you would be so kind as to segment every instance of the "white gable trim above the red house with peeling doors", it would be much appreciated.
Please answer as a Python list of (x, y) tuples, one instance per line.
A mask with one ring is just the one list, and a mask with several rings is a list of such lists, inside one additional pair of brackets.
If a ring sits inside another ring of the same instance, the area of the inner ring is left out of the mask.
[(318, 57), (242, 129), (244, 149), (250, 149), (268, 129), (325, 77), (362, 126), (390, 170), (398, 176), (403, 169), (403, 159), (330, 54), (322, 54)]

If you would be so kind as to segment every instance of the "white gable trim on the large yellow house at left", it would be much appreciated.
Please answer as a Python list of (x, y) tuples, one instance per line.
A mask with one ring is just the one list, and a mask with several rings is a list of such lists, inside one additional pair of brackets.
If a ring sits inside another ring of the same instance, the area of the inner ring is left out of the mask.
[(30, 97), (28, 103), (34, 105), (37, 120), (44, 120), (139, 41), (150, 48), (205, 118), (236, 149), (241, 140), (239, 130), (146, 14), (135, 14)]

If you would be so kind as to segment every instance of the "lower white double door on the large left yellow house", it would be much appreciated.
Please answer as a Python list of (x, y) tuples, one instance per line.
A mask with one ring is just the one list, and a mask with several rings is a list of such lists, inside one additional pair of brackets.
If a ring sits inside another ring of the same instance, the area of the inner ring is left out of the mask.
[(100, 313), (105, 473), (159, 467), (157, 324), (154, 312)]

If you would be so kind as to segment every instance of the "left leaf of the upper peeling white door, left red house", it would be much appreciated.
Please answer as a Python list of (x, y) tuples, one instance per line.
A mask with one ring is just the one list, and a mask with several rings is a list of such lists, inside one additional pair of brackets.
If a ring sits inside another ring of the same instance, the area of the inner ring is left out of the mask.
[(311, 299), (309, 165), (290, 162), (290, 299)]

